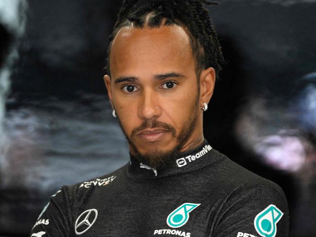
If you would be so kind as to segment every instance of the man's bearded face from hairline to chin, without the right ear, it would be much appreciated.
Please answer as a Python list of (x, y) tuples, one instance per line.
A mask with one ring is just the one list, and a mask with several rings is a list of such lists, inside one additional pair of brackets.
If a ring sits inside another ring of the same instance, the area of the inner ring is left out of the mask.
[(187, 33), (176, 25), (122, 28), (109, 60), (105, 84), (130, 152), (152, 167), (165, 165), (202, 132)]

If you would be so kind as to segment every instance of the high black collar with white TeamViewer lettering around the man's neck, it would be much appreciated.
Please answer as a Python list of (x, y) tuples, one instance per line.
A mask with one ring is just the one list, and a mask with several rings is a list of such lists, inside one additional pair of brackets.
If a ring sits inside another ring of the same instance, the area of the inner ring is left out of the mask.
[(186, 173), (204, 168), (224, 158), (221, 153), (210, 146), (206, 139), (204, 139), (204, 141), (197, 147), (185, 152), (180, 152), (170, 166), (161, 169), (154, 169), (144, 165), (131, 153), (129, 153), (129, 155), (130, 162), (127, 164), (126, 172), (128, 176), (135, 179), (157, 179), (160, 177)]

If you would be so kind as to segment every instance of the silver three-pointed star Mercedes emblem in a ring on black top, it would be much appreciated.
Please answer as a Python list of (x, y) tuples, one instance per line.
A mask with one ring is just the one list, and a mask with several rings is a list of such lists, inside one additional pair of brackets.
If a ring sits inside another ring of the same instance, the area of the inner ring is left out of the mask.
[(95, 222), (98, 217), (96, 209), (89, 209), (80, 214), (74, 224), (74, 231), (76, 235), (85, 233)]

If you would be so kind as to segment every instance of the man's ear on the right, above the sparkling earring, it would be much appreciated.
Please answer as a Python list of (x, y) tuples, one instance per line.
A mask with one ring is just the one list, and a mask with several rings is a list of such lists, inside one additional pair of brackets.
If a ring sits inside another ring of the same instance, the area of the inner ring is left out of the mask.
[(212, 67), (203, 69), (200, 74), (200, 98), (201, 102), (209, 103), (213, 95), (216, 73)]

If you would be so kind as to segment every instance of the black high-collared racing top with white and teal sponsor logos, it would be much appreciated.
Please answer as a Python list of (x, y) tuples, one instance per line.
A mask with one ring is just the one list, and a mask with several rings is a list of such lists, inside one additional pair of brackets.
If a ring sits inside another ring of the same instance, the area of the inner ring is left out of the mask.
[(131, 161), (63, 186), (30, 237), (287, 237), (280, 186), (234, 163), (205, 139), (172, 167)]

